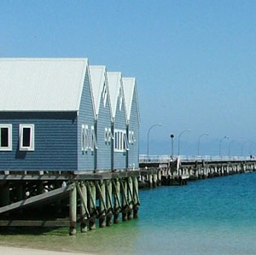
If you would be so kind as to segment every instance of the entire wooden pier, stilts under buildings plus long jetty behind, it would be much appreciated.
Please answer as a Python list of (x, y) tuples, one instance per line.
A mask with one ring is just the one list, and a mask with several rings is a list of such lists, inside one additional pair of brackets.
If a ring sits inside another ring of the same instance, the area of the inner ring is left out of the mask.
[[(0, 171), (0, 227), (69, 227), (75, 235), (138, 217), (138, 188), (256, 171), (254, 159), (141, 157), (138, 171)], [(98, 223), (96, 223), (98, 222)]]

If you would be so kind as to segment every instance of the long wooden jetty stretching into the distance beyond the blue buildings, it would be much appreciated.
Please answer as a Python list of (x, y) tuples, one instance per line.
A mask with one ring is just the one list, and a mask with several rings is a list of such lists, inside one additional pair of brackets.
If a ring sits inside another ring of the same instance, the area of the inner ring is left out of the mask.
[[(238, 173), (256, 171), (255, 159), (231, 159), (231, 160), (184, 160), (149, 159), (140, 163), (141, 179), (147, 174), (156, 171), (158, 182), (161, 185), (184, 185), (188, 181), (206, 179), (211, 177), (223, 177)], [(151, 174), (152, 175), (152, 174)], [(154, 175), (153, 175), (154, 176)], [(148, 187), (151, 188), (151, 177), (148, 177)]]

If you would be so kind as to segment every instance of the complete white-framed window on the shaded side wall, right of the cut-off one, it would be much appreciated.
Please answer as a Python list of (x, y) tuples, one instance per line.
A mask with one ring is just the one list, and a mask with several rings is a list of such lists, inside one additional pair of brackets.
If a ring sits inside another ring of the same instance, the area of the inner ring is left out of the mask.
[(20, 150), (34, 150), (34, 125), (20, 124)]

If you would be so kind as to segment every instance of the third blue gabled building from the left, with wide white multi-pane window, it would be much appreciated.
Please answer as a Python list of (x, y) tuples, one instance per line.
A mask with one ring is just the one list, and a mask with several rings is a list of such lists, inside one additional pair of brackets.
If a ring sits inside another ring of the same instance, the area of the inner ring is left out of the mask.
[(126, 136), (126, 109), (121, 72), (107, 72), (112, 111), (112, 169), (127, 168), (127, 151), (129, 150)]

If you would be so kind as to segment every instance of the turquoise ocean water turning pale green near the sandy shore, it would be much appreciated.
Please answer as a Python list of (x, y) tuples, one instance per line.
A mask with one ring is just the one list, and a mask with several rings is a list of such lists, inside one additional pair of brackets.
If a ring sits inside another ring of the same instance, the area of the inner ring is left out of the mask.
[(140, 190), (140, 218), (85, 234), (0, 234), (0, 245), (106, 254), (256, 254), (256, 172)]

